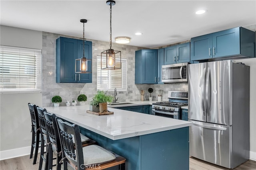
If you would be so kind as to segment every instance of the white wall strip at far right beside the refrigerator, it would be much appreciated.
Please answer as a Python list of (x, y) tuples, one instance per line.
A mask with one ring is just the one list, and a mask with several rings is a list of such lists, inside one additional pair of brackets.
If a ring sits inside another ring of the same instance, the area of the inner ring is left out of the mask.
[(234, 62), (250, 66), (250, 159), (256, 160), (256, 58)]

